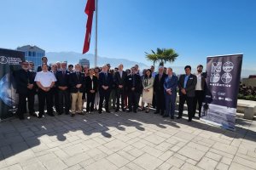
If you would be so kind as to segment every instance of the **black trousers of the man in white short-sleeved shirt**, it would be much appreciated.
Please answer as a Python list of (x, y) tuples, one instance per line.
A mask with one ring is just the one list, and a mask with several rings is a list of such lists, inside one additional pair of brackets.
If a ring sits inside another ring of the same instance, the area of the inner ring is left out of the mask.
[(44, 115), (44, 105), (46, 101), (46, 106), (47, 106), (47, 114), (52, 114), (53, 113), (53, 96), (52, 96), (52, 91), (51, 89), (49, 92), (44, 92), (42, 89), (38, 89), (38, 102), (39, 102), (39, 115), (38, 116), (43, 116)]

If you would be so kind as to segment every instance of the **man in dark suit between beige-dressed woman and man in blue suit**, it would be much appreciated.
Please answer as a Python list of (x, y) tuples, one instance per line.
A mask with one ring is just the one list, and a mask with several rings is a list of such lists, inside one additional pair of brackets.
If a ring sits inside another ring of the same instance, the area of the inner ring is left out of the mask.
[(156, 111), (154, 114), (161, 113), (161, 116), (165, 113), (165, 94), (164, 94), (164, 82), (166, 79), (166, 73), (164, 73), (164, 67), (159, 67), (159, 73), (154, 77), (154, 94), (156, 100)]

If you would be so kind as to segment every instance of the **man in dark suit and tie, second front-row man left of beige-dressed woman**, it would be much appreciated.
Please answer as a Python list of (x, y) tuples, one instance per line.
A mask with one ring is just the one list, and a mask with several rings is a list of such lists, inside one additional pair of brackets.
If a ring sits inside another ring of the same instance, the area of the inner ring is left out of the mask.
[(120, 97), (121, 97), (121, 108), (125, 111), (125, 79), (127, 77), (126, 72), (123, 71), (124, 65), (119, 65), (119, 71), (114, 74), (113, 82), (116, 87), (116, 109), (115, 112), (119, 111)]

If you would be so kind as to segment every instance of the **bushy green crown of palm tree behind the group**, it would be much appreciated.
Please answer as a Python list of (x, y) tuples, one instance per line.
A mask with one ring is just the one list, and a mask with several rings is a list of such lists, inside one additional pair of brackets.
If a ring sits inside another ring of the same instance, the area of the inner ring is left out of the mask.
[(164, 65), (166, 62), (174, 62), (177, 59), (178, 54), (172, 48), (157, 48), (156, 52), (153, 50), (152, 54), (146, 54), (146, 59), (153, 61), (153, 64), (159, 62), (160, 65)]

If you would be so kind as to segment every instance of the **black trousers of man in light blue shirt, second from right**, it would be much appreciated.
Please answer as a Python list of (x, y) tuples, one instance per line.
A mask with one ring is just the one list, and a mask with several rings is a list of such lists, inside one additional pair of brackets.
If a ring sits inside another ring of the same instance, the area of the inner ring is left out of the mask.
[(178, 116), (183, 116), (183, 107), (185, 104), (185, 101), (188, 105), (188, 114), (189, 114), (189, 120), (192, 120), (193, 114), (194, 114), (194, 97), (188, 97), (187, 95), (180, 95), (179, 96), (179, 105), (178, 105)]

